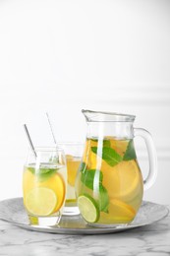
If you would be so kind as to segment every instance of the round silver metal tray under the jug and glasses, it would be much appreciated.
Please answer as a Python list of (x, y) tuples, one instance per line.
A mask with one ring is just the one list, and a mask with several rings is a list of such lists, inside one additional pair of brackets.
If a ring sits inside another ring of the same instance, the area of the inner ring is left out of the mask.
[(63, 216), (59, 226), (30, 225), (26, 214), (23, 198), (12, 198), (0, 202), (0, 219), (20, 227), (50, 233), (65, 234), (100, 234), (125, 231), (146, 224), (153, 224), (166, 217), (169, 210), (163, 206), (151, 202), (142, 202), (142, 207), (135, 220), (126, 226), (117, 227), (93, 227), (85, 224), (81, 216)]

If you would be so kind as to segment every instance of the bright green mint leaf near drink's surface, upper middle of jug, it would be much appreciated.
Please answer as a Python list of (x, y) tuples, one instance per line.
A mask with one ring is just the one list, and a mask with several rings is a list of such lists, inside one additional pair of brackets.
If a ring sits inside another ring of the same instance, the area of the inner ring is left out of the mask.
[[(91, 147), (91, 151), (98, 155), (97, 147)], [(101, 156), (98, 155), (98, 157), (105, 160), (110, 166), (114, 166), (122, 160), (122, 157), (115, 150), (108, 147), (103, 147), (102, 154)]]

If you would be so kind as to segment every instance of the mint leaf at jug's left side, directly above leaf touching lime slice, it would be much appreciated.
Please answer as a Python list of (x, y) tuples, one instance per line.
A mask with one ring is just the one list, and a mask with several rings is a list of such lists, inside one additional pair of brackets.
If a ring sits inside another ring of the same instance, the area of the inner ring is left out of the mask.
[(98, 187), (103, 179), (103, 173), (100, 170), (96, 170), (96, 169), (85, 170), (82, 173), (81, 181), (85, 184), (86, 187), (93, 190), (94, 182), (95, 182), (94, 176), (97, 174), (98, 174), (98, 179), (97, 179), (97, 183), (98, 183), (97, 187)]

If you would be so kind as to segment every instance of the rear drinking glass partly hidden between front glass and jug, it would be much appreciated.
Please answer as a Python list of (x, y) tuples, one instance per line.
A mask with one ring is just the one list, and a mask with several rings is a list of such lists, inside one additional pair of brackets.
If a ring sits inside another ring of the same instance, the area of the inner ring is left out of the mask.
[(82, 142), (60, 142), (58, 146), (62, 148), (66, 154), (67, 162), (67, 194), (63, 215), (72, 216), (79, 215), (80, 211), (77, 206), (77, 198), (75, 193), (75, 181), (78, 169), (82, 160), (84, 143)]

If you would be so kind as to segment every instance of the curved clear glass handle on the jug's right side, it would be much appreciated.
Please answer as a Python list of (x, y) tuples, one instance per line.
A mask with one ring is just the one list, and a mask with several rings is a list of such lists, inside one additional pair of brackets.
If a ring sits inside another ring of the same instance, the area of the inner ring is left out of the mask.
[(148, 160), (149, 160), (149, 171), (148, 171), (147, 177), (143, 180), (143, 188), (144, 190), (147, 190), (153, 185), (157, 176), (156, 150), (155, 150), (154, 143), (150, 133), (145, 129), (134, 128), (134, 136), (142, 137), (147, 149)]

